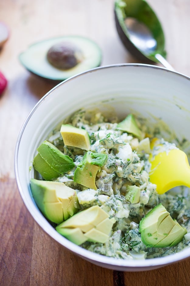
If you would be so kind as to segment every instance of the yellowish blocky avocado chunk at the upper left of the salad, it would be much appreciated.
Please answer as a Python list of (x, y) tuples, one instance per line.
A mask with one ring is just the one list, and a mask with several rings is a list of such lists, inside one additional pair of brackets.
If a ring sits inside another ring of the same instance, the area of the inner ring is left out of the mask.
[(69, 124), (62, 124), (60, 129), (64, 145), (89, 150), (91, 143), (88, 132)]

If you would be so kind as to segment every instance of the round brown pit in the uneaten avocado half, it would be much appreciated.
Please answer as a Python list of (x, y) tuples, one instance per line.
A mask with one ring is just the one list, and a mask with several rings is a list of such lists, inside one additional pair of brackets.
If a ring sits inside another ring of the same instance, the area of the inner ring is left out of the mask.
[(47, 52), (48, 62), (57, 69), (71, 69), (81, 63), (83, 58), (80, 48), (70, 42), (57, 43)]

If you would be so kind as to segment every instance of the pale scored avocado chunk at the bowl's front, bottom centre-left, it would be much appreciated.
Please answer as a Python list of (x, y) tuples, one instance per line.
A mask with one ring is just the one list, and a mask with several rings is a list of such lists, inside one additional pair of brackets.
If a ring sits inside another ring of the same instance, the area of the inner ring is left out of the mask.
[(70, 217), (56, 230), (77, 245), (85, 241), (105, 243), (115, 222), (102, 208), (92, 206)]

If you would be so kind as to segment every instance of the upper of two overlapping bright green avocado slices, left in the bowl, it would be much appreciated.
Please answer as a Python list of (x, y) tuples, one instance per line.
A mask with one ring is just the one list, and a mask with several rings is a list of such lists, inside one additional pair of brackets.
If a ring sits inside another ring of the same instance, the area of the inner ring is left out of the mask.
[(56, 146), (48, 141), (43, 141), (37, 148), (37, 151), (46, 163), (60, 174), (63, 174), (74, 167), (73, 159), (64, 155)]

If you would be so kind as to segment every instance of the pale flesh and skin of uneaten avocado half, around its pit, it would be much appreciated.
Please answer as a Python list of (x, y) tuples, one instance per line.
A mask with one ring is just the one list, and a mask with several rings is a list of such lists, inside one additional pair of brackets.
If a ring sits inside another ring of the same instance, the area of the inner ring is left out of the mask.
[[(48, 50), (58, 43), (71, 43), (83, 53), (80, 63), (70, 69), (58, 69), (47, 60)], [(30, 45), (19, 55), (20, 63), (31, 73), (48, 80), (63, 81), (75, 74), (100, 66), (102, 51), (91, 39), (81, 36), (62, 36)]]

